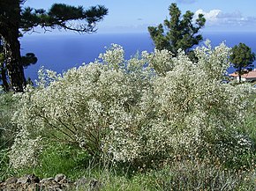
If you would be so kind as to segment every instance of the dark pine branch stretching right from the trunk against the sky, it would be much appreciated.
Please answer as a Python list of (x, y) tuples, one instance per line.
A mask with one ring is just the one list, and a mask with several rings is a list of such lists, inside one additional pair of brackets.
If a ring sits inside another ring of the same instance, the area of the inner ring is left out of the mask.
[[(26, 7), (21, 11), (20, 28), (27, 32), (34, 30), (34, 27), (41, 26), (47, 30), (65, 29), (79, 33), (93, 33), (96, 31), (95, 23), (103, 19), (108, 10), (101, 5), (92, 6), (85, 10), (82, 6), (71, 6), (67, 4), (53, 4), (49, 11)], [(79, 24), (74, 20), (79, 20)]]

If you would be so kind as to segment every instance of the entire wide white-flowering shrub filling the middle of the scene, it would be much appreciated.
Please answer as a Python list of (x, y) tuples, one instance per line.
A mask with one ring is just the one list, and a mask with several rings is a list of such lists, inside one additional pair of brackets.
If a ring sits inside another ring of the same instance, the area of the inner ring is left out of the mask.
[(75, 143), (116, 161), (198, 153), (225, 159), (250, 150), (237, 128), (251, 89), (221, 84), (230, 48), (207, 41), (195, 52), (196, 63), (167, 50), (125, 61), (123, 48), (113, 45), (63, 76), (42, 69), (39, 86), (20, 95), (13, 121), (32, 137)]

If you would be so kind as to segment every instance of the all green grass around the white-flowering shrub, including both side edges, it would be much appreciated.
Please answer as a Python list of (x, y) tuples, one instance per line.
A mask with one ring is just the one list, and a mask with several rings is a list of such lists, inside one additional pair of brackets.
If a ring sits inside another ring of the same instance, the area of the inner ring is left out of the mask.
[[(15, 99), (0, 95), (0, 180), (10, 176), (34, 173), (40, 178), (64, 173), (71, 180), (80, 177), (102, 182), (102, 190), (256, 190), (256, 153), (247, 153), (238, 163), (211, 164), (206, 160), (174, 160), (161, 167), (132, 169), (110, 161), (94, 160), (87, 152), (73, 145), (45, 143), (38, 164), (14, 170), (9, 165), (8, 151), (15, 135), (11, 114)], [(256, 142), (255, 114), (246, 122), (246, 135)]]

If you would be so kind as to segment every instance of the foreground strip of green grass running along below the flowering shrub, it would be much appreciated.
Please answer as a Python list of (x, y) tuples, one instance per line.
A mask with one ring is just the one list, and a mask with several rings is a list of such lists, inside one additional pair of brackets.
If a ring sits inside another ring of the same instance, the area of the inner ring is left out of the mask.
[(86, 152), (71, 145), (52, 143), (41, 153), (38, 165), (20, 169), (17, 176), (34, 173), (40, 178), (64, 173), (71, 180), (80, 177), (96, 179), (102, 190), (254, 190), (255, 168), (224, 169), (204, 160), (171, 161), (155, 169), (137, 169), (98, 163)]

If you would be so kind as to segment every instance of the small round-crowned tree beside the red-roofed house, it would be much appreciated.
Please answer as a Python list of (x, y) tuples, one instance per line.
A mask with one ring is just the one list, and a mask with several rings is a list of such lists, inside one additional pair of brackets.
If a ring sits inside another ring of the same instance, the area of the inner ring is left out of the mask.
[(230, 62), (239, 76), (239, 82), (241, 82), (241, 76), (243, 74), (252, 71), (253, 62), (255, 61), (255, 54), (252, 53), (252, 49), (247, 47), (245, 43), (239, 43), (231, 50)]

